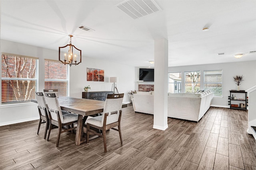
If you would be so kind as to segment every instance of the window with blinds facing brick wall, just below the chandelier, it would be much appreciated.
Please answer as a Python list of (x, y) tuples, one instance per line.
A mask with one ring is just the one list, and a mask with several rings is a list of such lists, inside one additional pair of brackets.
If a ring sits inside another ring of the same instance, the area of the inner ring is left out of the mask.
[(69, 65), (59, 61), (44, 61), (44, 88), (58, 89), (59, 96), (69, 96)]

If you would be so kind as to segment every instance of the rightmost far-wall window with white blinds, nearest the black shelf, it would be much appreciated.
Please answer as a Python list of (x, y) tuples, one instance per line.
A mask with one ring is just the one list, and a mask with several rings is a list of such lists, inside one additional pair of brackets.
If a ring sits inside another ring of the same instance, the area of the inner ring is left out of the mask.
[(204, 90), (208, 89), (214, 96), (222, 96), (222, 70), (204, 71)]

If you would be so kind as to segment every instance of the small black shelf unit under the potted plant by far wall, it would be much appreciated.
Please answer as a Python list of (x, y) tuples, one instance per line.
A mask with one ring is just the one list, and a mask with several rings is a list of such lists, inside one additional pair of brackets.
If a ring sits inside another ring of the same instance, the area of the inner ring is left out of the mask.
[[(247, 110), (248, 106), (248, 98), (247, 98), (247, 92), (245, 90), (229, 90), (230, 96), (228, 96), (228, 105), (230, 105), (230, 109), (243, 109)], [(241, 94), (243, 93), (243, 97), (233, 99), (232, 95)], [(240, 107), (240, 104), (243, 104), (243, 107)]]

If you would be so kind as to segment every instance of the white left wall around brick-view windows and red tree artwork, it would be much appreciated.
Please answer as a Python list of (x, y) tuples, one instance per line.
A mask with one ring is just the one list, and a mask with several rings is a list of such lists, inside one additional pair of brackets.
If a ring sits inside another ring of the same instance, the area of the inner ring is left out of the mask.
[[(58, 50), (58, 47), (56, 47)], [(40, 47), (25, 45), (12, 41), (0, 40), (0, 52), (39, 57), (39, 89), (44, 89), (44, 59), (58, 60), (58, 51), (43, 49)], [(100, 68), (104, 70), (104, 82), (87, 82), (86, 68)], [(119, 82), (117, 88), (119, 93), (124, 93), (124, 103), (130, 103), (128, 92), (134, 90), (135, 73), (134, 66), (118, 64), (111, 61), (96, 60), (82, 57), (82, 63), (70, 68), (70, 97), (82, 98), (84, 86), (90, 85), (91, 91), (111, 90), (112, 83), (109, 77), (117, 76)], [(1, 93), (1, 92), (0, 92)], [(25, 105), (2, 105), (0, 106), (0, 125), (8, 125), (39, 119), (37, 104)]]

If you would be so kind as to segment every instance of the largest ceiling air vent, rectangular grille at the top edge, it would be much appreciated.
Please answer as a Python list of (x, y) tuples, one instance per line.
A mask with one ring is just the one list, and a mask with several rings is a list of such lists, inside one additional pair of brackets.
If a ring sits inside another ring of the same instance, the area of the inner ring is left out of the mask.
[(154, 0), (125, 0), (116, 6), (133, 19), (161, 11)]

